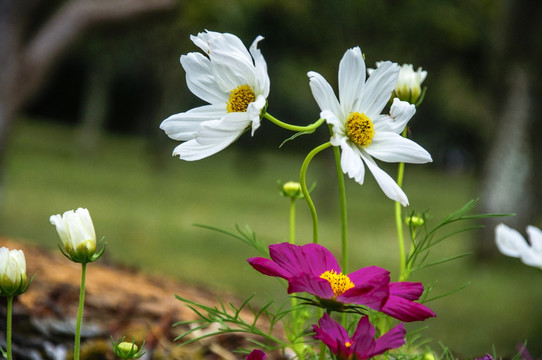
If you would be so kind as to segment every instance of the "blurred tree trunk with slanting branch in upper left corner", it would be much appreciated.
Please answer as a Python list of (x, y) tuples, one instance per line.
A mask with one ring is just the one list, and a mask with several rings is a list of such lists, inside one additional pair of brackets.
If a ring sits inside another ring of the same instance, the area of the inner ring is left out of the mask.
[[(0, 0), (0, 180), (10, 127), (62, 53), (86, 30), (103, 22), (171, 9), (176, 0), (70, 0), (36, 27), (40, 0)], [(53, 7), (50, 5), (49, 7)], [(43, 10), (43, 9), (40, 9)], [(32, 18), (32, 20), (30, 20)]]

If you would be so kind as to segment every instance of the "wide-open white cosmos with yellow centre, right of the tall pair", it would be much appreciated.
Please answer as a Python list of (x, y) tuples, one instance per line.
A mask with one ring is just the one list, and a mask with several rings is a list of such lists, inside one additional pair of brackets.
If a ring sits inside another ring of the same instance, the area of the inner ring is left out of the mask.
[(408, 199), (397, 183), (375, 163), (421, 164), (431, 155), (400, 135), (416, 112), (414, 105), (394, 99), (389, 114), (381, 114), (397, 83), (399, 65), (383, 62), (365, 81), (365, 62), (359, 47), (349, 49), (339, 65), (339, 99), (318, 73), (309, 72), (310, 86), (322, 110), (320, 116), (333, 127), (331, 144), (341, 147), (343, 172), (363, 184), (367, 165), (384, 193), (403, 206)]

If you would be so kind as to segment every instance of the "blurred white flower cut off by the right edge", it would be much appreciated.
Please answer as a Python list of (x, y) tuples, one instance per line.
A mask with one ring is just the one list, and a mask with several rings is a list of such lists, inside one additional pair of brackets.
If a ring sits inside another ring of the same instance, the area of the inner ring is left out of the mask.
[(530, 245), (521, 234), (504, 224), (495, 228), (495, 243), (504, 255), (520, 258), (525, 265), (542, 269), (542, 231), (527, 226)]

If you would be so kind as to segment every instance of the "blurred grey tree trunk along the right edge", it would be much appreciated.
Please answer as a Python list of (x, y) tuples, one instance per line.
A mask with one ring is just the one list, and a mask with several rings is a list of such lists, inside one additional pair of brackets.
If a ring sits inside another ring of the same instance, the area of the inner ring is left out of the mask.
[(540, 219), (542, 203), (542, 122), (540, 105), (535, 101), (542, 76), (541, 54), (536, 52), (542, 4), (519, 0), (508, 6), (499, 34), (500, 56), (492, 59), (498, 64), (493, 86), (495, 126), (482, 180), (482, 207), (484, 212), (516, 216), (485, 221), (486, 229), (476, 248), (479, 257), (495, 253), (494, 229), (499, 222), (524, 232), (527, 224)]

